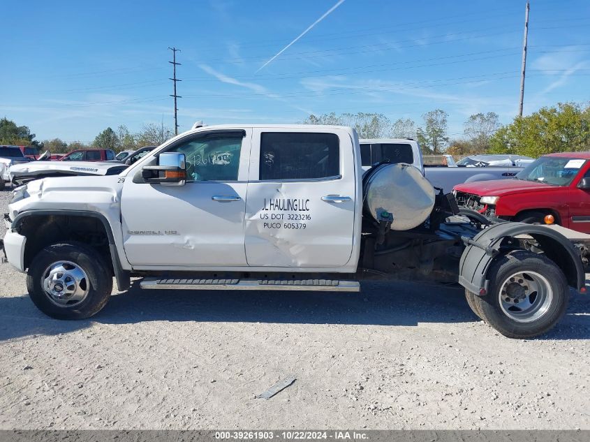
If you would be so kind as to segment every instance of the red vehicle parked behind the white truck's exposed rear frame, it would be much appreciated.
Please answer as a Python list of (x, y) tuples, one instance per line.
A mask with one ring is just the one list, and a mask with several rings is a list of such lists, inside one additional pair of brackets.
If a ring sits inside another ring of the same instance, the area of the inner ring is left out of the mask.
[(541, 156), (504, 179), (455, 186), (459, 205), (488, 217), (590, 233), (590, 152)]

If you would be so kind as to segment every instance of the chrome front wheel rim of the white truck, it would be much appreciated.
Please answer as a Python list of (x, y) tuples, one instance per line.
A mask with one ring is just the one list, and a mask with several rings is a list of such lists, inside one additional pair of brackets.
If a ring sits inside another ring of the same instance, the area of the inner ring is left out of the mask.
[(57, 261), (43, 272), (41, 286), (47, 298), (57, 307), (75, 307), (90, 290), (84, 269), (71, 261)]

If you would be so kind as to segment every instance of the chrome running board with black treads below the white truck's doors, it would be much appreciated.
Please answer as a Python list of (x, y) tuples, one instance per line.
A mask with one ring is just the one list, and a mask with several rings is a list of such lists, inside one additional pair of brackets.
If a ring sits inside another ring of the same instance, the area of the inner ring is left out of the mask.
[(144, 289), (165, 290), (321, 290), (358, 292), (358, 281), (337, 279), (144, 279)]

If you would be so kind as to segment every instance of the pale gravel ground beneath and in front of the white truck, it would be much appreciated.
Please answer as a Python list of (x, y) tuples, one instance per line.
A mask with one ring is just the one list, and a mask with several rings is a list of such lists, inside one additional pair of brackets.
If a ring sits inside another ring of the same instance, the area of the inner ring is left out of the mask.
[(456, 287), (135, 286), (87, 321), (41, 314), (8, 265), (0, 287), (0, 429), (590, 429), (590, 296), (515, 341)]

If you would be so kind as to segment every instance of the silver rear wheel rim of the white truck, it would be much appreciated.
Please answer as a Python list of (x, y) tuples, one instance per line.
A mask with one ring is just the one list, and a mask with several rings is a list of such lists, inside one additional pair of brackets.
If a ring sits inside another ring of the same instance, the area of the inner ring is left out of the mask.
[(503, 314), (518, 323), (530, 323), (542, 317), (553, 302), (553, 289), (542, 274), (517, 272), (506, 278), (500, 293)]

